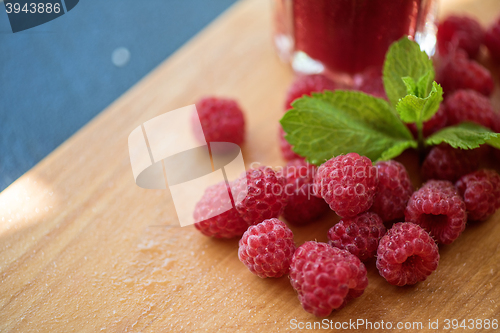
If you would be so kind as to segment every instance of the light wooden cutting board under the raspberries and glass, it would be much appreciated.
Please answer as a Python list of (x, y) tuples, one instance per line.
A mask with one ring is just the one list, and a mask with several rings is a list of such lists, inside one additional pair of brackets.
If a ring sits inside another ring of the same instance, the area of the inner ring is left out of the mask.
[[(252, 275), (237, 240), (181, 228), (169, 191), (137, 187), (128, 155), (135, 127), (216, 94), (246, 111), (247, 164), (284, 164), (277, 122), (293, 74), (275, 56), (270, 10), (269, 0), (237, 3), (0, 194), (0, 331), (274, 332), (318, 321), (287, 277)], [(443, 1), (441, 14), (452, 11), (486, 25), (500, 3)], [(336, 221), (294, 228), (296, 243), (326, 241)], [(439, 331), (446, 319), (499, 320), (499, 240), (497, 212), (442, 246), (438, 270), (412, 287), (389, 285), (368, 262), (365, 294), (328, 320), (438, 321)]]

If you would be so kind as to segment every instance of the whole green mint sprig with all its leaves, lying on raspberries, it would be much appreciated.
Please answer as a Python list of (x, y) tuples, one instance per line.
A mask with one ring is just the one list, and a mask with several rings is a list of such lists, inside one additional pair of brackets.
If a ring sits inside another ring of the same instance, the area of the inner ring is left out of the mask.
[[(357, 152), (372, 161), (388, 160), (408, 148), (442, 142), (474, 149), (489, 144), (500, 149), (500, 133), (463, 123), (423, 138), (423, 123), (438, 111), (443, 90), (434, 81), (432, 61), (417, 43), (404, 37), (389, 48), (383, 82), (389, 102), (362, 92), (325, 91), (292, 103), (281, 119), (293, 150), (313, 164)], [(414, 123), (415, 140), (405, 123)]]

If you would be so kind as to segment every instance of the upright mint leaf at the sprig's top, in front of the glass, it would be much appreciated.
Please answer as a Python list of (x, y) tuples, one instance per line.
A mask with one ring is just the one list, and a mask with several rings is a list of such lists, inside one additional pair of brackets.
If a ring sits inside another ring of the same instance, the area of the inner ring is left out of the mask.
[[(434, 67), (429, 56), (420, 50), (417, 43), (407, 37), (394, 42), (387, 52), (384, 62), (384, 89), (392, 105), (407, 95), (407, 88), (402, 77), (411, 77), (426, 97), (434, 80)], [(424, 77), (424, 78), (423, 78)]]

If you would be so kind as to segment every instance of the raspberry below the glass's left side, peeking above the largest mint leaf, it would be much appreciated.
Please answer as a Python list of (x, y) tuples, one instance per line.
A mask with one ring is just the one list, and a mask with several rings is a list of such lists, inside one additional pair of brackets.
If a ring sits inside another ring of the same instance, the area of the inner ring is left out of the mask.
[(292, 102), (304, 95), (310, 96), (313, 92), (335, 90), (335, 83), (321, 74), (299, 76), (288, 88), (285, 99), (285, 110), (292, 108)]

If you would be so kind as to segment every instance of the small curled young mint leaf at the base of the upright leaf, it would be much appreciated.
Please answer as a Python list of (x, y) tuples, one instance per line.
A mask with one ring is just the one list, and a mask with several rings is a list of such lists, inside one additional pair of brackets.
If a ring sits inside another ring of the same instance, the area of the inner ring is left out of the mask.
[[(407, 78), (403, 78), (404, 80)], [(409, 81), (409, 80), (407, 80)], [(405, 81), (406, 84), (406, 81)], [(425, 98), (406, 95), (396, 105), (396, 110), (405, 123), (424, 122), (432, 118), (443, 100), (443, 89), (433, 82), (432, 90)]]

